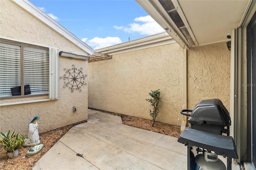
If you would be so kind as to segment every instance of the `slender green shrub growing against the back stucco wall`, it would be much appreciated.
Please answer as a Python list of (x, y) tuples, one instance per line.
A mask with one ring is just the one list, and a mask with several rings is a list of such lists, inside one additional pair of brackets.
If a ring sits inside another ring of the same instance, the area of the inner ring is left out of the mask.
[(149, 110), (149, 113), (150, 113), (150, 116), (152, 116), (152, 124), (151, 126), (153, 127), (154, 126), (154, 123), (155, 123), (155, 120), (156, 120), (156, 117), (159, 113), (159, 107), (158, 107), (158, 104), (159, 104), (159, 101), (160, 101), (160, 89), (158, 90), (155, 90), (155, 91), (152, 91), (152, 93), (149, 93), (149, 95), (152, 97), (151, 99), (146, 99), (146, 101), (148, 101), (149, 103), (151, 103), (151, 106), (153, 106), (153, 111)]

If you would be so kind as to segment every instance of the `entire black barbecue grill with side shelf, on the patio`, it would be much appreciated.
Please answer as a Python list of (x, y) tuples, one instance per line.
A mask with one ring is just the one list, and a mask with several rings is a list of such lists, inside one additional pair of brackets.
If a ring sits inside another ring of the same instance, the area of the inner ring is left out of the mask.
[[(202, 100), (193, 110), (182, 110), (180, 113), (190, 117), (188, 123), (191, 127), (186, 127), (178, 138), (178, 142), (188, 147), (188, 170), (193, 169), (190, 166), (190, 156), (194, 154), (191, 151), (193, 147), (197, 147), (198, 155), (195, 160), (206, 155), (204, 157), (206, 163), (212, 164), (215, 160), (211, 159), (215, 158), (217, 162), (217, 155), (222, 155), (224, 158), (227, 157), (227, 169), (231, 170), (231, 158), (238, 159), (238, 154), (234, 140), (232, 136), (229, 136), (231, 120), (222, 101), (219, 99)], [(212, 151), (216, 157), (211, 155)], [(202, 154), (199, 154), (200, 152)]]

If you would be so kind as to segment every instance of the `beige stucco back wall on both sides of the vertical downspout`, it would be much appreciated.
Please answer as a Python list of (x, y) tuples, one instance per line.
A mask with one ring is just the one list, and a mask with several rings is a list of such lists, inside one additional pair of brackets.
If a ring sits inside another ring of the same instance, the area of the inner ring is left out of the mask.
[[(188, 109), (203, 99), (218, 98), (229, 110), (230, 51), (226, 43), (187, 52)], [(152, 119), (150, 90), (160, 89), (156, 121), (181, 126), (182, 48), (178, 43), (113, 55), (88, 63), (88, 107)]]

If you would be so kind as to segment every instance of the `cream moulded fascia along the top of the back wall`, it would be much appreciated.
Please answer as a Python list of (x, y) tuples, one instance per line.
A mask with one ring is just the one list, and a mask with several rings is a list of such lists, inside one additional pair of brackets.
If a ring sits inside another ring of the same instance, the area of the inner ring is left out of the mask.
[(112, 45), (110, 47), (96, 49), (94, 51), (108, 55), (115, 55), (119, 53), (136, 51), (139, 49), (166, 45), (170, 43), (176, 43), (176, 41), (168, 33), (163, 32), (153, 36), (132, 40), (130, 42), (120, 43), (117, 45)]

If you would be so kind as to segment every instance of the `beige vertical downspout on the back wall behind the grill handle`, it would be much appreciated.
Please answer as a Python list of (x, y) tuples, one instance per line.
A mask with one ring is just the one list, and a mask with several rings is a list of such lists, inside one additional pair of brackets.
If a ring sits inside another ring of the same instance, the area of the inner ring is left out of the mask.
[[(187, 49), (182, 49), (182, 110), (188, 107), (188, 90), (187, 90)], [(188, 126), (188, 116), (182, 116), (182, 124), (180, 132), (183, 132), (185, 127)]]

